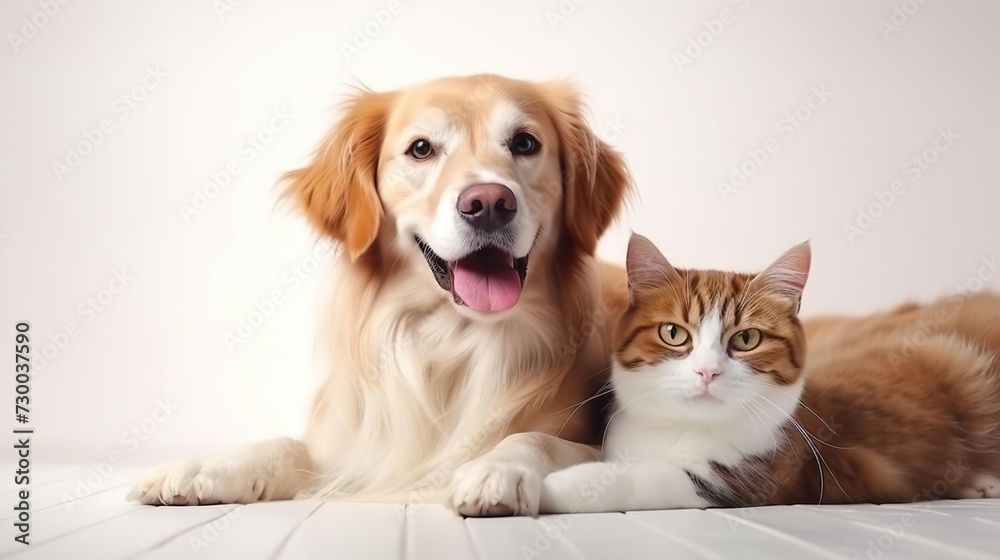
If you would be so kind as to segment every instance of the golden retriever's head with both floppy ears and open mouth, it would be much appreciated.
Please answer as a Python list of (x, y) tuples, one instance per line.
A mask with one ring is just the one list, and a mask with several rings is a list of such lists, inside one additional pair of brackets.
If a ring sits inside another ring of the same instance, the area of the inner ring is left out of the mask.
[(478, 316), (516, 305), (540, 252), (593, 254), (629, 187), (572, 87), (488, 75), (355, 95), (287, 179), (353, 261), (421, 261)]

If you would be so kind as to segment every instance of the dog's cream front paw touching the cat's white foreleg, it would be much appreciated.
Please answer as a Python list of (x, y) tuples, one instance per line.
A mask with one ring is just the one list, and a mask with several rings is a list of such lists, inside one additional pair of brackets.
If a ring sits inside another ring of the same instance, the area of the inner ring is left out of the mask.
[(541, 492), (538, 472), (518, 464), (479, 460), (455, 472), (449, 505), (470, 517), (538, 515)]

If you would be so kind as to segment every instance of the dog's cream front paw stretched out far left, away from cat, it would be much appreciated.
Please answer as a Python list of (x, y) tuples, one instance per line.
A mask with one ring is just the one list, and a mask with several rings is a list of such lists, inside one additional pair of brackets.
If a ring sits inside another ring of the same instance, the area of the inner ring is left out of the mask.
[(147, 505), (249, 504), (269, 498), (264, 473), (246, 461), (177, 461), (142, 478), (126, 497)]

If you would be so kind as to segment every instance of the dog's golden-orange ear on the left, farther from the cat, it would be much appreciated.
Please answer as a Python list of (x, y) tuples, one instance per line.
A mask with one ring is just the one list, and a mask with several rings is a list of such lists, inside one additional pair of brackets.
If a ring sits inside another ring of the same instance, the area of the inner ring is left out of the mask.
[(295, 201), (313, 227), (343, 243), (352, 260), (372, 246), (382, 223), (375, 177), (394, 99), (391, 93), (356, 94), (309, 165), (282, 177), (283, 196)]

